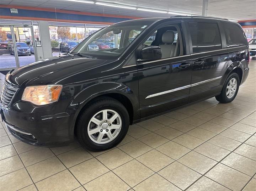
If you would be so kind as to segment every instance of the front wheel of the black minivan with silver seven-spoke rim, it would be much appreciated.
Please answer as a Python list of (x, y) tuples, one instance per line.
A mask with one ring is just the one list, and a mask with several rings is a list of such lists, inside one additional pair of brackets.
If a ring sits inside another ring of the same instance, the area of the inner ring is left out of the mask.
[[(107, 120), (103, 118), (103, 112), (107, 114)], [(113, 116), (116, 118), (112, 123), (111, 117)], [(95, 119), (96, 122), (92, 122)], [(123, 140), (129, 123), (129, 114), (122, 103), (112, 98), (102, 98), (90, 103), (81, 111), (75, 127), (75, 136), (81, 146), (86, 149), (103, 151), (118, 145)]]

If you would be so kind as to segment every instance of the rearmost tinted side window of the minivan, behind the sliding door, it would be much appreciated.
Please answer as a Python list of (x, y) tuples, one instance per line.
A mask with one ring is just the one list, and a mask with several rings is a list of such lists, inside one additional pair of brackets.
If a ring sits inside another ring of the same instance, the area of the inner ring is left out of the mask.
[(226, 36), (227, 47), (246, 45), (246, 38), (239, 26), (231, 23), (223, 23), (222, 26)]

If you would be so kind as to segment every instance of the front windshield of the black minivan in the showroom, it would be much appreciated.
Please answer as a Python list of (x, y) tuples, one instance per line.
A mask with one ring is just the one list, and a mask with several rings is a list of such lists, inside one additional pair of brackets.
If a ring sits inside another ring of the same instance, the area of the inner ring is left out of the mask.
[[(71, 50), (71, 54), (87, 55), (98, 59), (118, 58), (135, 40), (139, 34), (145, 30), (155, 20), (139, 19), (112, 24), (87, 37), (78, 46)], [(131, 40), (132, 39), (132, 40)], [(112, 47), (103, 47), (105, 43), (111, 43)], [(99, 46), (97, 51), (91, 50), (89, 45), (96, 43)]]

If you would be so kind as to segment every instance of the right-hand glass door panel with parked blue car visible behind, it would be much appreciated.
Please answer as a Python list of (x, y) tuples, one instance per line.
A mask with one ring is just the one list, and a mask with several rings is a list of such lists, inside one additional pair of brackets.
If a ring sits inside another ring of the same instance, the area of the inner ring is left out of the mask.
[(18, 55), (18, 66), (35, 62), (34, 36), (32, 27), (13, 27), (15, 35), (14, 47)]

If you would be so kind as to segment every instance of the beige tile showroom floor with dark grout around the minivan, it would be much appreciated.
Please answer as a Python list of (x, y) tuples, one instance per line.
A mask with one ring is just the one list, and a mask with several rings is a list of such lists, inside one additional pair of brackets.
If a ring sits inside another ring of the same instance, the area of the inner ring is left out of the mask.
[(255, 82), (253, 60), (232, 103), (212, 98), (134, 124), (105, 152), (27, 145), (1, 123), (0, 190), (255, 191)]

